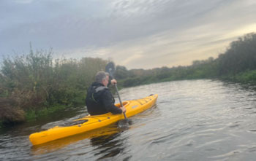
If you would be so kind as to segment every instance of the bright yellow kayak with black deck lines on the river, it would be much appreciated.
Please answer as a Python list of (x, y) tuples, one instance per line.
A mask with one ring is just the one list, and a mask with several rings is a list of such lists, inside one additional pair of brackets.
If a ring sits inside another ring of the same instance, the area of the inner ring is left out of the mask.
[[(132, 117), (135, 114), (139, 114), (146, 109), (151, 108), (157, 101), (158, 95), (150, 95), (146, 98), (124, 101), (123, 106), (127, 109), (127, 117)], [(120, 106), (120, 104), (116, 104)], [(65, 138), (67, 136), (73, 136), (79, 133), (85, 133), (100, 127), (118, 122), (118, 120), (124, 119), (124, 114), (107, 114), (86, 116), (81, 119), (74, 120), (75, 125), (68, 127), (53, 127), (49, 130), (41, 131), (39, 133), (32, 133), (29, 136), (29, 140), (33, 145), (44, 144), (49, 141), (54, 141), (59, 138)]]

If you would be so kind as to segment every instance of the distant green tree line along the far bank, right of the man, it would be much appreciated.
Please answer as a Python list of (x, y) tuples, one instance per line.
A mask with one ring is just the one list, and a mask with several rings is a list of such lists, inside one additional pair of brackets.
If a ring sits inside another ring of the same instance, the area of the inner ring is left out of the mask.
[(231, 42), (218, 58), (194, 60), (191, 66), (131, 69), (116, 67), (116, 78), (123, 87), (181, 79), (229, 79), (256, 83), (256, 34), (246, 34)]

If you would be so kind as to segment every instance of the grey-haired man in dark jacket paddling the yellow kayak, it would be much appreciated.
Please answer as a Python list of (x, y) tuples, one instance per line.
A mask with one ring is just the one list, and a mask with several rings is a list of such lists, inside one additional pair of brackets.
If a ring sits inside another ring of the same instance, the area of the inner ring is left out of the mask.
[[(110, 84), (115, 85), (116, 79), (112, 79)], [(99, 71), (95, 76), (95, 82), (91, 84), (87, 90), (86, 106), (87, 111), (91, 115), (106, 114), (121, 114), (126, 109), (115, 106), (115, 99), (108, 89), (109, 74), (104, 71)]]

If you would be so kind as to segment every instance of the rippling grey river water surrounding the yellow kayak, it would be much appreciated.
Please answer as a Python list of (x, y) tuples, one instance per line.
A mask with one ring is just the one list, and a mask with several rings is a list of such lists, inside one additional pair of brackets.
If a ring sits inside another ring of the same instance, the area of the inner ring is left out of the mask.
[[(157, 93), (156, 106), (127, 127), (31, 146), (29, 134), (86, 115), (69, 109), (0, 130), (1, 160), (255, 160), (256, 90), (217, 80), (163, 82), (125, 88), (123, 101)], [(118, 100), (118, 99), (116, 99)]]

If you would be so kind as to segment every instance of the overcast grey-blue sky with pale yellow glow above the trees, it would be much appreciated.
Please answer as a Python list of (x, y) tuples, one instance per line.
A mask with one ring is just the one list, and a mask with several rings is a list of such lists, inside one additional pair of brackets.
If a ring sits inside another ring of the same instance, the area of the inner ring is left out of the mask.
[(31, 42), (54, 58), (187, 66), (250, 32), (255, 0), (0, 0), (0, 55), (28, 53)]

